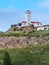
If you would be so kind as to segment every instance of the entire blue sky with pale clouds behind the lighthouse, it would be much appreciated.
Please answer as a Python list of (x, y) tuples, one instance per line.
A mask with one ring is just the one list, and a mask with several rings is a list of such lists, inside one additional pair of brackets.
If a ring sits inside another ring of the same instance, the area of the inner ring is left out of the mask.
[(32, 21), (49, 24), (49, 0), (0, 0), (0, 31), (24, 20), (27, 9), (32, 12)]

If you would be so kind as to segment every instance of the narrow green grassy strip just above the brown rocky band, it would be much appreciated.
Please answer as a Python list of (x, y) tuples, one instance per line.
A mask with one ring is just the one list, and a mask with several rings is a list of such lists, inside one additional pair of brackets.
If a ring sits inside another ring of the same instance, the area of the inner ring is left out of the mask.
[[(25, 33), (24, 33), (25, 32)], [(0, 33), (0, 36), (44, 36), (44, 35), (49, 35), (49, 30), (47, 31), (37, 31), (37, 30), (33, 30), (33, 31), (24, 31), (24, 32), (18, 32), (18, 31), (13, 31), (13, 32), (5, 32), (5, 33)], [(27, 32), (27, 33), (26, 33)]]

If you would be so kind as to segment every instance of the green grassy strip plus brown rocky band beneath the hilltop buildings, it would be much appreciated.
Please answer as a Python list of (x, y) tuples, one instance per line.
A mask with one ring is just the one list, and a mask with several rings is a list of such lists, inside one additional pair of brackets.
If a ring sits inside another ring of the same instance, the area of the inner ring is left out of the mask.
[(0, 33), (0, 49), (21, 48), (29, 44), (49, 43), (48, 31), (27, 31), (27, 32), (5, 32)]

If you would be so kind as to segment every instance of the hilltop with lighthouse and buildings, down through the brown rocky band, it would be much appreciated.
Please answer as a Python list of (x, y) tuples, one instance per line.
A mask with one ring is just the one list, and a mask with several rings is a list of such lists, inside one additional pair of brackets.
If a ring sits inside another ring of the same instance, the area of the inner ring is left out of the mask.
[(49, 43), (49, 25), (31, 21), (31, 11), (25, 12), (25, 20), (11, 25), (6, 32), (0, 32), (0, 48), (25, 47), (29, 44)]

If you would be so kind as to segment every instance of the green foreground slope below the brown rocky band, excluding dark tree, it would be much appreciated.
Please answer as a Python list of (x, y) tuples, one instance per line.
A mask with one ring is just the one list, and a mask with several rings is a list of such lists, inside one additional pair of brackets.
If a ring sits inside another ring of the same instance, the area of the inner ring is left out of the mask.
[[(0, 60), (4, 60), (5, 51), (8, 52), (12, 65), (49, 65), (49, 44), (0, 50)], [(8, 60), (7, 54), (6, 59)], [(3, 63), (0, 62), (0, 65)]]

